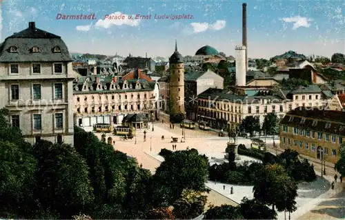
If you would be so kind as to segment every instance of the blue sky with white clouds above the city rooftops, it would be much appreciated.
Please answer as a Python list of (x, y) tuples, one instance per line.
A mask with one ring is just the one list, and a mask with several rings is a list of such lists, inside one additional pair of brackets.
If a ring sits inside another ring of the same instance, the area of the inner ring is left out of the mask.
[[(345, 53), (345, 1), (338, 0), (4, 0), (0, 38), (35, 21), (37, 28), (61, 36), (70, 52), (169, 57), (176, 39), (184, 56), (205, 45), (234, 55), (242, 44), (244, 2), (248, 57), (267, 59), (288, 50), (326, 57)], [(79, 14), (95, 15), (62, 19)]]

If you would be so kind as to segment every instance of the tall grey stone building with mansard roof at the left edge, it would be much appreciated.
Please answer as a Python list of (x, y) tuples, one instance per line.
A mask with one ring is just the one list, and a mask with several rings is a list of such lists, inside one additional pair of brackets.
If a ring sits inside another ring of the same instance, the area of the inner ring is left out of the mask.
[(7, 37), (0, 47), (0, 108), (30, 143), (73, 144), (72, 58), (61, 37), (36, 28)]

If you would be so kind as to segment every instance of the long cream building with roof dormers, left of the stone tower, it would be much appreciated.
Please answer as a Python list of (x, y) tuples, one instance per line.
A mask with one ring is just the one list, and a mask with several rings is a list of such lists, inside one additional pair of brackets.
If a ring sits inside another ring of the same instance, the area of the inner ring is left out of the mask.
[(139, 69), (124, 77), (78, 77), (73, 94), (78, 126), (121, 125), (127, 114), (145, 113), (150, 120), (157, 118), (158, 84)]

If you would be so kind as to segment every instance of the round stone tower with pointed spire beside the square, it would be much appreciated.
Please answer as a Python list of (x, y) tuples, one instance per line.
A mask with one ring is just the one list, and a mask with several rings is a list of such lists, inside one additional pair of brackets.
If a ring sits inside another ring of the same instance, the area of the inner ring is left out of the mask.
[[(184, 117), (184, 61), (177, 51), (175, 41), (175, 52), (169, 58), (170, 68), (170, 121), (177, 115)], [(180, 117), (178, 117), (180, 118)]]

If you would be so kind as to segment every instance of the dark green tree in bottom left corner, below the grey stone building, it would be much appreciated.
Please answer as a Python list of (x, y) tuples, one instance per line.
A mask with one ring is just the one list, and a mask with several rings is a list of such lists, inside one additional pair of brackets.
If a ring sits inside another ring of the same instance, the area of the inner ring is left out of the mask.
[[(34, 172), (37, 160), (9, 141), (0, 141), (0, 216), (35, 217)], [(33, 212), (33, 213), (32, 213)]]

